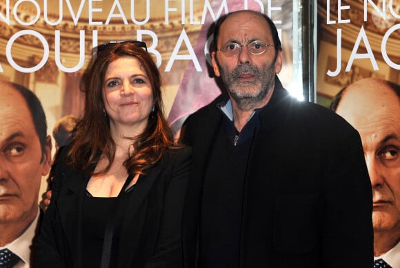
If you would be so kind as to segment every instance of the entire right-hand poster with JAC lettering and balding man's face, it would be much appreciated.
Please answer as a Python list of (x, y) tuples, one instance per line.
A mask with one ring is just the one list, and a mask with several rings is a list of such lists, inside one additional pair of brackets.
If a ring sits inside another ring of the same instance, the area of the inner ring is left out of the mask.
[[(317, 100), (360, 134), (374, 256), (399, 265), (400, 1), (318, 1)], [(380, 258), (380, 257), (379, 257)]]

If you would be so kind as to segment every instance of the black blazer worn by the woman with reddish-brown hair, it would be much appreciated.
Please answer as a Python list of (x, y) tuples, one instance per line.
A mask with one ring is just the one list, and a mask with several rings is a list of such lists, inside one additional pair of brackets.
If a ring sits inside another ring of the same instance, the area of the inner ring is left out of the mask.
[[(55, 167), (52, 200), (37, 243), (37, 267), (81, 267), (84, 258), (80, 223), (90, 175), (64, 165), (65, 154)], [(190, 148), (168, 150), (126, 195), (128, 210), (116, 216), (121, 234), (112, 267), (182, 266), (181, 214), (190, 156)]]

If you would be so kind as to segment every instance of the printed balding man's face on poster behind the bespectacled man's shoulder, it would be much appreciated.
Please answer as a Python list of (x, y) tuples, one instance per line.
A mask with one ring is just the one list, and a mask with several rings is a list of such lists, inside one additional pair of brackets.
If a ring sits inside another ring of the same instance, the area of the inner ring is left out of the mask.
[(361, 135), (372, 183), (374, 231), (400, 234), (399, 97), (379, 81), (361, 80), (344, 93), (337, 114)]

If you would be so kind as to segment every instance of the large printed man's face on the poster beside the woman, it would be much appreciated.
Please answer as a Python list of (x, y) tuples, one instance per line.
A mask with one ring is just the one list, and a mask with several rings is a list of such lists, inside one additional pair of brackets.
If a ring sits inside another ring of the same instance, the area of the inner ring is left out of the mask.
[(41, 161), (26, 101), (10, 85), (2, 85), (1, 92), (0, 225), (30, 223), (37, 214), (41, 176), (50, 169), (50, 136)]

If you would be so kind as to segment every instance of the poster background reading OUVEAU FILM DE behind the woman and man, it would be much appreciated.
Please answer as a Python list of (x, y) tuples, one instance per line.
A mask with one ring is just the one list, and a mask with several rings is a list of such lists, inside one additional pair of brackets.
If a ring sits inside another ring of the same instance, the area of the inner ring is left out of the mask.
[[(221, 94), (210, 68), (208, 28), (228, 12), (257, 10), (272, 18), (283, 43), (279, 76), (301, 94), (293, 75), (293, 5), (290, 0), (0, 0), (0, 79), (39, 97), (51, 134), (60, 118), (82, 114), (79, 81), (94, 47), (145, 41), (161, 72), (166, 114), (178, 135), (189, 114)], [(40, 196), (46, 187), (43, 177)]]

